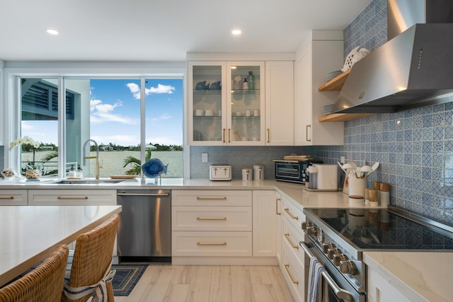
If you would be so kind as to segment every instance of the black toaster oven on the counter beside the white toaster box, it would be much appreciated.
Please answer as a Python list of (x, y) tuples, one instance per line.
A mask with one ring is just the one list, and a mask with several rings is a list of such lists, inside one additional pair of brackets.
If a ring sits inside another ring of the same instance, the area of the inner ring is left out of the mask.
[(275, 180), (286, 182), (305, 183), (308, 182), (306, 167), (311, 163), (322, 163), (322, 161), (289, 161), (285, 159), (275, 159)]

